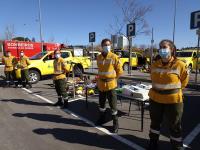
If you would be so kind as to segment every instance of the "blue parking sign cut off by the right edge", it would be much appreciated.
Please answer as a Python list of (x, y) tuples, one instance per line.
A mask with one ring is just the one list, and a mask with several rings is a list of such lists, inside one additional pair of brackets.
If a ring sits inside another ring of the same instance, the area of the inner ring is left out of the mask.
[(200, 28), (200, 11), (191, 13), (190, 29)]

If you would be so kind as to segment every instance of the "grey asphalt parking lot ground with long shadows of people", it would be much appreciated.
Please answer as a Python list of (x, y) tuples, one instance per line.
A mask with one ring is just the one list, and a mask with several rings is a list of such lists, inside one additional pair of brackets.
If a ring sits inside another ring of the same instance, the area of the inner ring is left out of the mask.
[[(1, 85), (3, 81), (1, 81)], [(57, 96), (52, 80), (42, 80), (32, 89), (0, 87), (0, 144), (3, 149), (138, 149), (147, 147), (150, 126), (148, 105), (145, 107), (144, 131), (141, 132), (140, 110), (137, 104), (118, 101), (118, 135), (110, 133), (112, 120), (109, 106), (107, 121), (102, 127), (94, 127), (98, 119), (98, 97), (90, 97), (88, 108), (85, 98), (71, 99), (68, 109), (52, 107)], [(200, 92), (185, 91), (183, 137), (191, 149), (200, 147)], [(165, 126), (165, 125), (164, 125)], [(193, 131), (194, 130), (194, 131)], [(164, 128), (160, 137), (160, 149), (170, 149), (169, 134)], [(191, 135), (191, 136), (189, 136)]]

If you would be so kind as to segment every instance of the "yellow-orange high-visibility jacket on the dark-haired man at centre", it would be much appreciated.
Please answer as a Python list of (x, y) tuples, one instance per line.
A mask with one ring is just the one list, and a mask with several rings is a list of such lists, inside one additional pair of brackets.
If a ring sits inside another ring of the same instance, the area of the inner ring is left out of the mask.
[(123, 73), (122, 64), (117, 55), (109, 52), (106, 57), (97, 56), (98, 88), (100, 91), (109, 91), (117, 87), (117, 79)]

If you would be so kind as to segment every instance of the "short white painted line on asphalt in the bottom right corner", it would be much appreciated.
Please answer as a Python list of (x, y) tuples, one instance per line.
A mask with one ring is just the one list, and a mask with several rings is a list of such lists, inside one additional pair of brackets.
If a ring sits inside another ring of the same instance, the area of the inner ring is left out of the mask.
[(183, 146), (185, 149), (186, 147), (189, 147), (189, 145), (192, 143), (192, 141), (195, 139), (195, 137), (200, 133), (200, 123), (190, 132), (190, 134), (183, 140)]

